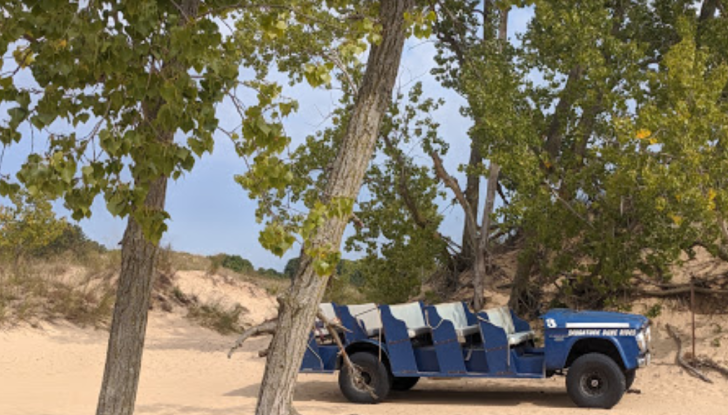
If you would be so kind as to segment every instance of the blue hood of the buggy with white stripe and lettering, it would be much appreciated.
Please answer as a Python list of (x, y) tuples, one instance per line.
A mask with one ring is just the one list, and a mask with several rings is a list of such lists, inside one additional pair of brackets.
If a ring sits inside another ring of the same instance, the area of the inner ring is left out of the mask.
[(613, 311), (574, 311), (568, 309), (550, 310), (542, 315), (541, 318), (544, 320), (547, 329), (640, 329), (649, 321), (647, 317), (638, 314), (617, 313)]

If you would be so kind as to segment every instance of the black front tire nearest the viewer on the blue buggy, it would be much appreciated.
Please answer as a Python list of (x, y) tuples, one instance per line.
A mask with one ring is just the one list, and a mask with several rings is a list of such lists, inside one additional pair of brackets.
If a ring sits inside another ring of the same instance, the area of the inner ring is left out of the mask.
[(566, 392), (582, 408), (610, 409), (622, 399), (626, 385), (622, 368), (601, 353), (579, 357), (566, 374)]

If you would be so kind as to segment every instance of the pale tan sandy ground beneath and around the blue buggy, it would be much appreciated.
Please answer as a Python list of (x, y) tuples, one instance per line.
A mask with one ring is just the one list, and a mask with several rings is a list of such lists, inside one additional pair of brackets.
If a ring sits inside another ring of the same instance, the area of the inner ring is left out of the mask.
[[(665, 314), (659, 320), (684, 322)], [(699, 316), (699, 351), (725, 363), (728, 318)], [(674, 344), (657, 323), (656, 359), (638, 373), (635, 388), (611, 413), (726, 414), (728, 381), (697, 381), (672, 365)], [(687, 331), (684, 330), (684, 333)], [(94, 413), (107, 333), (70, 325), (0, 332), (0, 414)], [(264, 360), (256, 355), (268, 339), (253, 339), (231, 360), (234, 337), (195, 327), (178, 313), (153, 312), (149, 323), (137, 414), (252, 414)], [(393, 393), (376, 406), (350, 404), (334, 375), (301, 375), (295, 405), (303, 414), (584, 414), (566, 395), (563, 378), (536, 381), (425, 380), (410, 392)], [(486, 412), (487, 411), (487, 412)], [(607, 413), (607, 411), (588, 411)]]

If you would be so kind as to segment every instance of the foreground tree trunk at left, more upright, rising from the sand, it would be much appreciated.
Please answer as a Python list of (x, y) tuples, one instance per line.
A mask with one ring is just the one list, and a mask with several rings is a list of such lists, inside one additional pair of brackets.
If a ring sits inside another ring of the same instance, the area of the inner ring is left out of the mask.
[[(149, 188), (144, 207), (164, 209), (166, 193), (167, 178), (156, 179)], [(134, 413), (157, 248), (129, 216), (122, 240), (121, 273), (96, 415)]]

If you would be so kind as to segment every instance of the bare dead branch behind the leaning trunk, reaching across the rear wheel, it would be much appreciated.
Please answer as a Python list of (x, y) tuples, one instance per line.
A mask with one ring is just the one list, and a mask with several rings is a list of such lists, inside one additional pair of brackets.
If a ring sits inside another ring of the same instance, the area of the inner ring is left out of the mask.
[[(336, 346), (339, 348), (339, 354), (341, 355), (344, 366), (349, 371), (351, 377), (354, 379), (354, 383), (358, 387), (366, 390), (373, 398), (376, 399), (377, 395), (374, 393), (374, 389), (367, 384), (366, 380), (361, 375), (361, 370), (359, 370), (359, 368), (351, 361), (351, 359), (349, 359), (349, 354), (346, 353), (346, 348), (344, 347), (344, 344), (341, 342), (341, 338), (339, 337), (339, 331), (349, 332), (350, 330), (342, 326), (341, 324), (329, 320), (328, 318), (326, 318), (326, 316), (323, 315), (323, 313), (321, 313), (321, 311), (316, 314), (316, 317), (324, 323), (326, 329), (331, 335), (331, 338), (334, 340), (334, 343), (336, 343)], [(277, 325), (278, 320), (272, 319), (245, 330), (240, 335), (240, 337), (235, 340), (235, 343), (228, 351), (228, 359), (231, 358), (235, 350), (242, 347), (243, 343), (245, 343), (245, 341), (249, 338), (263, 336), (266, 334), (275, 334)], [(266, 356), (268, 356), (268, 349), (260, 350), (258, 352), (258, 357)]]

